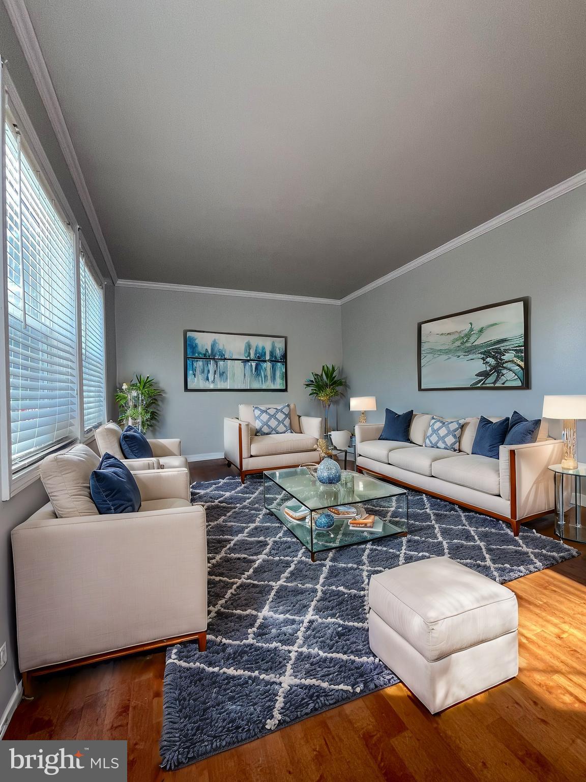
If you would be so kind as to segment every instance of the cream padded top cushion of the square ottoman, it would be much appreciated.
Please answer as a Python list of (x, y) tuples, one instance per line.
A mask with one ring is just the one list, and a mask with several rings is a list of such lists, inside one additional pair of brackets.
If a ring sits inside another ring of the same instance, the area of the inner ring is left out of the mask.
[(512, 633), (518, 624), (511, 590), (448, 557), (372, 576), (368, 602), (428, 661)]

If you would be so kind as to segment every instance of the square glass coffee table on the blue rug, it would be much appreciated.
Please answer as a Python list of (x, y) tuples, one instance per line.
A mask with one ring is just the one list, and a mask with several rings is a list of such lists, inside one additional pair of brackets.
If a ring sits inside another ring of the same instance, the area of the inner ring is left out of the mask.
[[(266, 510), (277, 516), (309, 550), (313, 562), (319, 551), (356, 546), (358, 543), (407, 533), (406, 490), (358, 472), (346, 472), (345, 475), (353, 478), (349, 485), (320, 483), (306, 467), (263, 473)], [(300, 521), (294, 521), (283, 510), (285, 504), (295, 508), (295, 500), (303, 506), (298, 512), (306, 513), (306, 517)], [(324, 512), (330, 512), (328, 508), (341, 505), (358, 506), (357, 511), (362, 515), (374, 515), (373, 529), (352, 529), (348, 526), (347, 518), (338, 518), (334, 514), (334, 526), (330, 529), (320, 529), (320, 522), (316, 526), (316, 519)]]

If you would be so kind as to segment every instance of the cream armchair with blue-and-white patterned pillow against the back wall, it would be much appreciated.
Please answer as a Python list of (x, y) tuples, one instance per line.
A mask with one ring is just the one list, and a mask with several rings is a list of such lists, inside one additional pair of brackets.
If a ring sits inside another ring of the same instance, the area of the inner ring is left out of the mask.
[(238, 418), (223, 419), (223, 454), (228, 466), (238, 469), (244, 483), (246, 475), (255, 472), (320, 461), (315, 447), (322, 436), (322, 419), (298, 415), (291, 404), (291, 429), (287, 435), (257, 436), (253, 405), (238, 405)]

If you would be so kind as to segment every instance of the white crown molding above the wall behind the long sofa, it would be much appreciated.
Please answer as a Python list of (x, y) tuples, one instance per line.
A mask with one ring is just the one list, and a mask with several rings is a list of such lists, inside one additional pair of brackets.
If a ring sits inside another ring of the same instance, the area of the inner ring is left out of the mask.
[(523, 201), (523, 203), (517, 204), (517, 206), (513, 206), (512, 209), (509, 209), (502, 214), (498, 214), (496, 217), (492, 217), (491, 220), (478, 225), (477, 228), (472, 228), (471, 231), (467, 231), (461, 236), (456, 236), (456, 239), (451, 239), (449, 242), (441, 245), (441, 247), (432, 249), (429, 253), (425, 253), (425, 255), (410, 261), (409, 264), (400, 266), (398, 269), (389, 272), (389, 274), (385, 274), (384, 277), (380, 277), (373, 282), (369, 282), (369, 284), (364, 285), (363, 288), (359, 288), (353, 293), (349, 293), (348, 296), (345, 296), (340, 301), (340, 303), (345, 304), (348, 301), (357, 299), (359, 296), (363, 296), (365, 293), (378, 288), (379, 285), (384, 285), (385, 282), (390, 282), (391, 280), (400, 277), (402, 274), (406, 274), (408, 271), (413, 271), (413, 269), (416, 269), (423, 264), (427, 264), (430, 260), (434, 260), (434, 258), (445, 255), (445, 253), (449, 253), (450, 250), (456, 249), (456, 247), (466, 244), (466, 242), (471, 242), (473, 239), (477, 239), (477, 237), (488, 233), (488, 231), (492, 231), (494, 228), (498, 228), (499, 226), (514, 220), (516, 217), (521, 217), (521, 215), (527, 214), (527, 212), (531, 212), (531, 210), (537, 209), (538, 206), (543, 206), (543, 204), (548, 203), (548, 201), (552, 201), (553, 199), (558, 198), (559, 195), (564, 195), (565, 193), (570, 192), (570, 190), (575, 190), (576, 188), (581, 187), (581, 185), (586, 185), (586, 170), (580, 171), (573, 177), (570, 177), (563, 182), (559, 182), (559, 185), (554, 185), (552, 188), (548, 188), (548, 190), (544, 190), (542, 193), (534, 195), (533, 198), (530, 198), (527, 201)]

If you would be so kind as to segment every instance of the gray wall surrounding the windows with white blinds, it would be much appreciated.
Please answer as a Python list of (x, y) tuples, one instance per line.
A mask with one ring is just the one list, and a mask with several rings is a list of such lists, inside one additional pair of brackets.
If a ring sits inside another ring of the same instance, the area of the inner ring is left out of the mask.
[[(55, 138), (51, 123), (48, 119), (45, 107), (35, 87), (33, 77), (30, 75), (26, 60), (20, 45), (16, 40), (12, 23), (6, 13), (5, 6), (0, 3), (0, 54), (8, 60), (8, 69), (13, 78), (16, 89), (23, 101), (27, 114), (38, 137), (41, 139), (43, 149), (51, 162), (59, 184), (79, 221), (84, 238), (88, 242), (89, 249), (96, 263), (100, 267), (104, 277), (107, 277), (105, 261), (100, 252), (98, 242), (95, 239), (91, 224), (80, 202), (79, 195), (70, 171), (66, 166), (59, 143)], [(106, 375), (110, 391), (116, 380), (116, 335), (114, 333), (114, 292), (113, 285), (105, 286), (105, 310), (106, 310)], [(2, 346), (2, 350), (4, 347)], [(111, 399), (111, 393), (109, 399)], [(12, 569), (12, 548), (10, 546), (10, 530), (20, 522), (25, 521), (47, 498), (41, 482), (37, 481), (26, 490), (18, 493), (12, 500), (0, 504), (0, 645), (8, 642), (8, 662), (0, 670), (0, 715), (4, 712), (10, 697), (14, 692), (16, 682), (20, 680), (18, 664), (16, 662), (16, 631), (14, 619), (14, 588)], [(1, 727), (1, 726), (0, 726)]]

